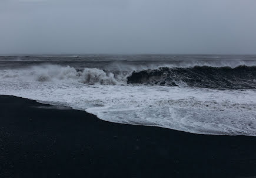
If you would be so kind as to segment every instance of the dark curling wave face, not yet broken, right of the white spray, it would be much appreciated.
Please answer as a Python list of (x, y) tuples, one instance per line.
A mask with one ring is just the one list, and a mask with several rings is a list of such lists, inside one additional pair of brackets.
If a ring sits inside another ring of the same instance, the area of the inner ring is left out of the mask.
[(154, 70), (134, 71), (128, 77), (130, 84), (188, 86), (203, 88), (256, 88), (256, 66), (231, 67), (160, 67)]

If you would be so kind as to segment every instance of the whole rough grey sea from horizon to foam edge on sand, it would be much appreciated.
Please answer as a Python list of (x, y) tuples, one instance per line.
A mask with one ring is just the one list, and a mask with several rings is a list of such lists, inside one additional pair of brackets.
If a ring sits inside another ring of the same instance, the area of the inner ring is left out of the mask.
[(0, 94), (109, 122), (256, 136), (256, 56), (1, 56)]

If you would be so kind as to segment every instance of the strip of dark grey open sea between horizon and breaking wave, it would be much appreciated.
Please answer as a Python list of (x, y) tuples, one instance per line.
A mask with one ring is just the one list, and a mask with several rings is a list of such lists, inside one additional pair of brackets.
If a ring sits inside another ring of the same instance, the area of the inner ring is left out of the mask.
[[(237, 66), (256, 66), (256, 56), (172, 56), (172, 55), (67, 55), (67, 56), (0, 56), (0, 64), (5, 61), (19, 63), (20, 67), (36, 66), (42, 62), (49, 64), (65, 64), (66, 66), (77, 67), (78, 64), (86, 62), (86, 66), (95, 66), (98, 69), (105, 67), (117, 67), (134, 70), (157, 69), (158, 67), (194, 67), (194, 66), (212, 66), (212, 67), (237, 67)], [(29, 61), (29, 63), (26, 63)], [(91, 63), (90, 63), (91, 62)], [(5, 63), (4, 63), (5, 64)], [(25, 65), (23, 65), (25, 64)], [(112, 66), (113, 65), (113, 66)], [(107, 69), (112, 70), (112, 69)]]

